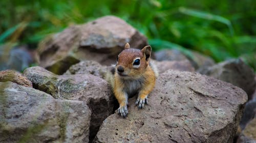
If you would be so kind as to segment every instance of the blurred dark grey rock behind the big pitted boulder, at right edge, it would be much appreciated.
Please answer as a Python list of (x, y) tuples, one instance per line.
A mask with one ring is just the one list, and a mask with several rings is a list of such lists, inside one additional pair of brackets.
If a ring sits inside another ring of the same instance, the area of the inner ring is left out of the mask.
[(200, 71), (200, 73), (232, 83), (247, 93), (248, 100), (252, 99), (256, 86), (254, 73), (242, 60), (233, 59), (221, 62)]

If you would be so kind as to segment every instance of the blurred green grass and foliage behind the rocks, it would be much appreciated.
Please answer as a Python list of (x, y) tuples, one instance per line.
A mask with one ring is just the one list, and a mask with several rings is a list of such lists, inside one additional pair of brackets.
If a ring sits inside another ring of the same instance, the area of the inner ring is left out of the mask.
[(256, 1), (0, 2), (0, 44), (37, 44), (49, 34), (116, 15), (147, 36), (154, 50), (193, 49), (217, 62), (242, 57), (256, 69)]

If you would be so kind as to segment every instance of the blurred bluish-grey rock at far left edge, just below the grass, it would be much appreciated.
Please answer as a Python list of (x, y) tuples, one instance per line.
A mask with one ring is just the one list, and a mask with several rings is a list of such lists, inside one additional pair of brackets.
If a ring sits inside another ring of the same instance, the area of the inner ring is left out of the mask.
[(0, 71), (12, 69), (22, 72), (33, 63), (27, 46), (4, 45), (0, 47)]

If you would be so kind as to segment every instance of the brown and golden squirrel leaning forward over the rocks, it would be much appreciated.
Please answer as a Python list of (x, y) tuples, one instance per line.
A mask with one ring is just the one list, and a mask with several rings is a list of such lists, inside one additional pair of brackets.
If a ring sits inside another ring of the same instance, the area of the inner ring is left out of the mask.
[(150, 58), (151, 46), (139, 50), (130, 48), (129, 43), (126, 43), (118, 55), (117, 63), (112, 65), (111, 73), (106, 76), (119, 103), (118, 114), (123, 118), (128, 114), (129, 97), (138, 94), (135, 104), (139, 109), (148, 104), (147, 96), (153, 91), (158, 76), (157, 68)]

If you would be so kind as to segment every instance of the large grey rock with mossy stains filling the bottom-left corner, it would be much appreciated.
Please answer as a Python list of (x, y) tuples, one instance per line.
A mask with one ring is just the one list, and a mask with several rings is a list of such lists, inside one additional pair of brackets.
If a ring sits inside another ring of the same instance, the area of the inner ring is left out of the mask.
[(81, 101), (0, 82), (0, 142), (88, 142), (91, 111)]

